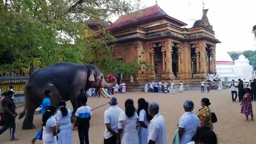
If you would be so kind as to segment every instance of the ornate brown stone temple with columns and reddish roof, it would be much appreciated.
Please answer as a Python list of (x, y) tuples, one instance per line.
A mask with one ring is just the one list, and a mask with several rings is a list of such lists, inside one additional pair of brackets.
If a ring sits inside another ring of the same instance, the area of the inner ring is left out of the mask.
[[(146, 61), (151, 68), (134, 74), (138, 83), (154, 80), (199, 82), (216, 73), (215, 38), (207, 10), (192, 28), (170, 17), (157, 4), (122, 15), (108, 31), (117, 38), (113, 57), (125, 63)], [(143, 66), (142, 66), (143, 67)]]

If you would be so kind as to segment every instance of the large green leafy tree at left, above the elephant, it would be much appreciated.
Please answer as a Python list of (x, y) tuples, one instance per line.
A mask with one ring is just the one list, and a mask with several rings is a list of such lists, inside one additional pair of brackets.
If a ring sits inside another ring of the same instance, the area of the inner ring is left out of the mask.
[[(137, 10), (140, 0), (0, 0), (0, 71), (42, 68), (61, 61), (87, 64), (95, 52), (108, 55), (114, 37), (100, 30), (91, 37), (89, 18)], [(0, 74), (1, 75), (1, 74)]]

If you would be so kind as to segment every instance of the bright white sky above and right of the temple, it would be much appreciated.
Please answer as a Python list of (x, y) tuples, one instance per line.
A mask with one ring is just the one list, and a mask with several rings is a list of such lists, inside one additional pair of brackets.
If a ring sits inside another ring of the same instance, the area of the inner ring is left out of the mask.
[[(252, 27), (256, 25), (255, 0), (157, 0), (157, 4), (171, 17), (192, 27), (201, 19), (204, 9), (209, 9), (207, 17), (221, 41), (218, 51), (256, 50)], [(155, 0), (141, 0), (146, 7), (155, 5)]]

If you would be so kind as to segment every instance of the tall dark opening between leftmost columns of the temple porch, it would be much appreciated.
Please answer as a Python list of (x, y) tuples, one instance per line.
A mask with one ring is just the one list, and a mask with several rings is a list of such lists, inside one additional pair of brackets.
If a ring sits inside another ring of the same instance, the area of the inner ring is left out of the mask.
[(155, 66), (155, 74), (156, 79), (161, 80), (161, 75), (163, 73), (163, 61), (162, 61), (162, 47), (155, 47), (155, 55), (154, 55), (154, 66)]

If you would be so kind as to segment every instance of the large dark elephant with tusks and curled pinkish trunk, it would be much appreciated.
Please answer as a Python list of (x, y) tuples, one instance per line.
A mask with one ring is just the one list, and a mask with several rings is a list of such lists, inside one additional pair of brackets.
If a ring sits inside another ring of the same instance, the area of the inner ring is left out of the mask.
[(81, 89), (86, 91), (94, 87), (99, 89), (103, 97), (108, 98), (103, 88), (109, 89), (116, 83), (117, 79), (113, 76), (111, 76), (110, 83), (106, 82), (103, 74), (94, 65), (60, 62), (39, 69), (29, 76), (25, 84), (25, 108), (19, 115), (19, 119), (26, 115), (22, 129), (35, 129), (34, 112), (41, 105), (45, 90), (52, 91), (51, 105), (58, 105), (61, 99), (70, 100), (74, 116), (77, 109), (77, 96)]

